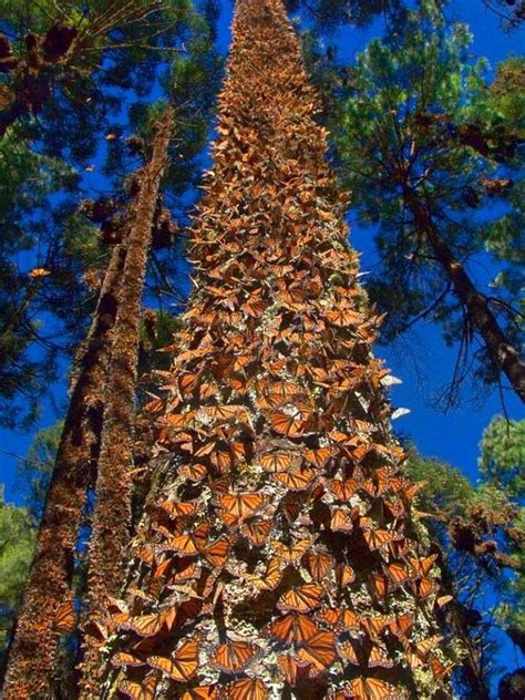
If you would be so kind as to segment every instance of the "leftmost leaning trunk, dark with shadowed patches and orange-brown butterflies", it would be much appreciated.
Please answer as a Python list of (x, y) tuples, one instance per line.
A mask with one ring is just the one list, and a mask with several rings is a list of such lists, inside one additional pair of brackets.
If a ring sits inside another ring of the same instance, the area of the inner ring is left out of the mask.
[[(33, 563), (10, 650), (4, 699), (48, 698), (60, 631), (55, 617), (72, 601), (76, 539), (99, 457), (104, 387), (111, 361), (125, 247), (111, 255), (93, 322), (79, 353), (68, 415), (45, 500)], [(59, 626), (60, 628), (60, 626)]]

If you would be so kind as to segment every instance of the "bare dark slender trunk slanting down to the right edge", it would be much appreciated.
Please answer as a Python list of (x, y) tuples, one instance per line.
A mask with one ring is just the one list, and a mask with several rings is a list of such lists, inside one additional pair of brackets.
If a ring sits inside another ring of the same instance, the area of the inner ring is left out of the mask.
[(503, 332), (486, 297), (476, 289), (463, 265), (452, 255), (425, 204), (410, 189), (405, 189), (404, 200), (415, 225), (424, 231), (437, 262), (452, 281), (457, 298), (483, 338), (488, 354), (507, 377), (516, 394), (525, 402), (525, 363), (521, 360), (519, 352)]

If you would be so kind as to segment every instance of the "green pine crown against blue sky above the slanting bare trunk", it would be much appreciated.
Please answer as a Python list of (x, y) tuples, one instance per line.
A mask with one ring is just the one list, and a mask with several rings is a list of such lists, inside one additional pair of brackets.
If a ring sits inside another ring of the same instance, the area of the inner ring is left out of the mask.
[[(523, 62), (506, 62), (490, 84), (486, 61), (473, 60), (467, 28), (446, 24), (426, 0), (346, 69), (339, 93), (348, 96), (332, 104), (342, 179), (360, 223), (375, 231), (379, 260), (368, 291), (388, 312), (387, 342), (421, 318), (439, 323), (445, 341), (463, 350), (475, 332), (408, 204), (412, 193), (456, 260), (466, 266), (490, 258), (495, 279), (478, 281), (478, 291), (519, 347), (514, 297), (523, 259)], [(475, 357), (477, 377), (496, 381), (486, 351)]]

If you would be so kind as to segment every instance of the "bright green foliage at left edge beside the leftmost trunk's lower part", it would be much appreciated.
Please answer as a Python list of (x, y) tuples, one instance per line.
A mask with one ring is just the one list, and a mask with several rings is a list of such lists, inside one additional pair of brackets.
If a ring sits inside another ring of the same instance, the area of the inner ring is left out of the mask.
[(9, 505), (0, 488), (0, 671), (31, 563), (34, 524), (27, 508)]

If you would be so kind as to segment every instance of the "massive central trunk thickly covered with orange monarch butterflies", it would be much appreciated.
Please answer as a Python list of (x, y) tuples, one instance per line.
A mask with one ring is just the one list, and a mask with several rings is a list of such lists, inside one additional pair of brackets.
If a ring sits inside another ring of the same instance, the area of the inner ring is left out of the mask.
[(86, 698), (447, 697), (317, 111), (281, 1), (239, 0), (153, 487)]

